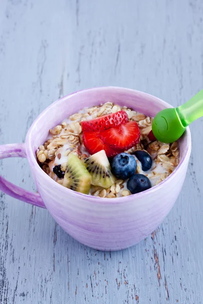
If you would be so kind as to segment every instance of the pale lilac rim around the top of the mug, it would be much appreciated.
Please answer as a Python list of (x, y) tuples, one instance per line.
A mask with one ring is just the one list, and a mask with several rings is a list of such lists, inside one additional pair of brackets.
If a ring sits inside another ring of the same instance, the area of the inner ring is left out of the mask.
[[(30, 126), (30, 128), (27, 132), (27, 135), (26, 135), (26, 140), (25, 140), (26, 155), (27, 155), (27, 159), (28, 159), (29, 164), (32, 165), (33, 167), (35, 167), (35, 172), (37, 172), (37, 174), (41, 174), (46, 182), (52, 183), (55, 188), (58, 187), (58, 189), (60, 189), (60, 191), (63, 191), (64, 193), (66, 193), (66, 195), (70, 194), (72, 197), (76, 197), (76, 198), (79, 197), (83, 200), (94, 201), (94, 202), (97, 202), (97, 203), (106, 204), (108, 202), (108, 204), (109, 203), (111, 203), (111, 204), (112, 203), (113, 204), (122, 204), (122, 203), (127, 203), (129, 201), (128, 196), (127, 197), (114, 198), (113, 200), (110, 200), (108, 198), (94, 197), (94, 196), (90, 196), (90, 195), (87, 195), (87, 194), (82, 194), (82, 193), (79, 193), (79, 192), (75, 192), (75, 191), (72, 191), (69, 188), (66, 188), (66, 187), (60, 185), (59, 183), (57, 183), (55, 180), (53, 180), (48, 174), (46, 174), (42, 170), (42, 168), (39, 166), (39, 164), (37, 162), (35, 152), (34, 153), (32, 152), (32, 144), (31, 144), (32, 129), (36, 127), (36, 125), (42, 119), (43, 116), (46, 116), (46, 113), (50, 108), (55, 107), (56, 104), (59, 103), (61, 100), (69, 99), (69, 98), (72, 97), (72, 95), (80, 94), (80, 92), (103, 90), (103, 89), (104, 90), (106, 90), (106, 89), (119, 90), (119, 91), (123, 91), (125, 93), (126, 92), (136, 92), (143, 97), (149, 96), (151, 99), (154, 99), (154, 102), (159, 101), (162, 105), (164, 105), (167, 108), (173, 107), (171, 104), (163, 101), (162, 99), (160, 99), (156, 96), (153, 96), (151, 94), (148, 94), (148, 93), (145, 93), (145, 92), (142, 92), (142, 91), (129, 89), (129, 88), (105, 86), (105, 87), (94, 87), (94, 88), (79, 90), (79, 91), (73, 92), (71, 94), (65, 95), (65, 96), (57, 99), (56, 101), (52, 102), (48, 107), (46, 107), (40, 113), (40, 115), (38, 115), (38, 117), (35, 119), (35, 121), (33, 121), (33, 123), (31, 124), (31, 126)], [(148, 196), (148, 194), (151, 194), (151, 193), (153, 194), (154, 192), (159, 191), (159, 189), (162, 188), (163, 184), (167, 185), (167, 183), (170, 182), (178, 174), (179, 169), (181, 169), (184, 166), (185, 161), (187, 161), (187, 159), (189, 159), (190, 153), (191, 153), (191, 132), (190, 132), (189, 127), (186, 128), (186, 131), (185, 131), (183, 136), (187, 137), (188, 145), (186, 147), (186, 150), (184, 152), (182, 160), (180, 161), (179, 165), (175, 168), (175, 170), (168, 177), (166, 177), (163, 181), (161, 181), (158, 185), (155, 185), (155, 186), (151, 187), (150, 189), (147, 189), (143, 192), (130, 195), (131, 199), (133, 199), (133, 198), (136, 199), (136, 198), (141, 198), (141, 197), (145, 198), (145, 196)]]

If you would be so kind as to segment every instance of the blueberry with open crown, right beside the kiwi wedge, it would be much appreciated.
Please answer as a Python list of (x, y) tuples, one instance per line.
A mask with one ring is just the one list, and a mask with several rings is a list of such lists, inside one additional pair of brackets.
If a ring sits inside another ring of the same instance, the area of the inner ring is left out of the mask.
[(114, 157), (111, 169), (117, 178), (126, 179), (136, 172), (137, 162), (130, 154), (120, 153)]

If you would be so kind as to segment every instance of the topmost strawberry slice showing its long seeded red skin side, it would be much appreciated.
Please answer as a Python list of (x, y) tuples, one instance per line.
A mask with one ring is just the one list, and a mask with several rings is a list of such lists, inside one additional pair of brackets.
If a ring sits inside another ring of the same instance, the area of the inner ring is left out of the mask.
[(127, 113), (123, 110), (99, 118), (81, 122), (83, 132), (104, 131), (128, 122)]

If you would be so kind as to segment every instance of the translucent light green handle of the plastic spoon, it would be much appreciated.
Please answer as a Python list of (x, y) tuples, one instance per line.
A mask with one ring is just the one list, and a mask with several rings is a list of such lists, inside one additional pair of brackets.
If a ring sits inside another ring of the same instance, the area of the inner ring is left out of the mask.
[(203, 116), (203, 90), (183, 105), (176, 108), (176, 112), (184, 127)]

